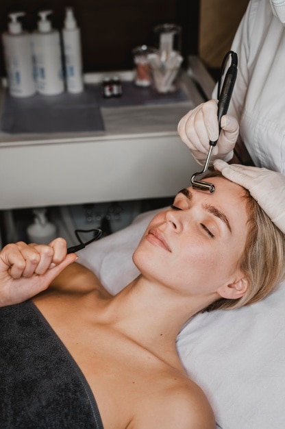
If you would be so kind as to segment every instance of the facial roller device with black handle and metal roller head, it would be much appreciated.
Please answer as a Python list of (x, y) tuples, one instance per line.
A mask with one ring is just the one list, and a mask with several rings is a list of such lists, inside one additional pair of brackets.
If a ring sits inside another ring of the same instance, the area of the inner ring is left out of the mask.
[[(229, 69), (227, 69), (227, 73), (225, 74), (225, 78), (223, 79), (223, 87), (221, 89), (221, 79), (225, 70), (225, 62), (227, 61), (228, 56), (232, 56), (232, 61)], [(218, 84), (218, 121), (219, 121), (219, 133), (221, 132), (221, 117), (223, 114), (227, 113), (227, 109), (230, 105), (230, 99), (232, 97), (232, 91), (234, 90), (234, 84), (236, 82), (236, 75), (238, 73), (238, 56), (234, 51), (229, 51), (225, 54), (225, 58), (223, 59), (223, 64), (221, 67), (221, 77), (219, 79)], [(206, 158), (205, 166), (202, 171), (199, 173), (194, 173), (191, 177), (191, 183), (193, 188), (199, 189), (200, 191), (210, 191), (210, 193), (214, 192), (214, 185), (209, 182), (203, 182), (203, 180), (196, 180), (197, 175), (202, 175), (206, 173), (208, 170), (208, 166), (210, 163), (210, 158), (212, 155), (212, 149), (216, 146), (218, 140), (210, 141), (210, 149), (208, 152), (208, 156)]]

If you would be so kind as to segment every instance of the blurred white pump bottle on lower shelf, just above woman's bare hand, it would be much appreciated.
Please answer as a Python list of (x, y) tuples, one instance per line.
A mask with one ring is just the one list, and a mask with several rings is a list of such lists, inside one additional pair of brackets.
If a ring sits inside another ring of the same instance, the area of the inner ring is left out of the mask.
[(47, 220), (46, 208), (35, 208), (34, 223), (27, 227), (29, 243), (49, 244), (56, 238), (55, 225)]

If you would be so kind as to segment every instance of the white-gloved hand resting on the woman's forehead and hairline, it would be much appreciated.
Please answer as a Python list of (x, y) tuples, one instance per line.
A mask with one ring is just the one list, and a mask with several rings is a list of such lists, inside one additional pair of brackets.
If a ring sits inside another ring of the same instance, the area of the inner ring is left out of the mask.
[(271, 221), (285, 234), (285, 176), (275, 171), (214, 161), (223, 176), (247, 188)]

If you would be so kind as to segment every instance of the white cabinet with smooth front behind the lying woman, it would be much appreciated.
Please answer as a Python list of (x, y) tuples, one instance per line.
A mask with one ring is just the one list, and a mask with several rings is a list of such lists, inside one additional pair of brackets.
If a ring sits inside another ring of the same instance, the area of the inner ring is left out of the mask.
[[(206, 73), (203, 79), (212, 88)], [(104, 132), (0, 132), (0, 210), (170, 197), (188, 186), (201, 167), (177, 136), (177, 123), (203, 99), (186, 73), (182, 85), (187, 101), (103, 108)]]

